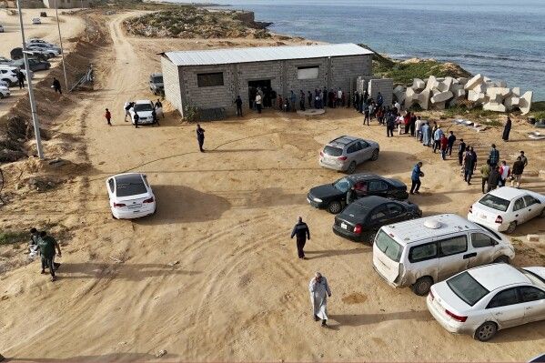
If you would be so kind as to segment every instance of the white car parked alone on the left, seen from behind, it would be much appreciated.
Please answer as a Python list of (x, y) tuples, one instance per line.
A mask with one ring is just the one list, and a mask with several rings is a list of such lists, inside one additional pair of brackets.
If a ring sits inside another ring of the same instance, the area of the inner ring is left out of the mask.
[(145, 217), (156, 212), (156, 198), (145, 174), (110, 176), (106, 179), (106, 189), (112, 216), (116, 219)]

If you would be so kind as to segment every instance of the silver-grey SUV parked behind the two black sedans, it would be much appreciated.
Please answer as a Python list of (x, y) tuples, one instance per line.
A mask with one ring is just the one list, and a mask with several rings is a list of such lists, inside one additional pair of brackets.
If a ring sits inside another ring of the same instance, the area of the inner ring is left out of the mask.
[(329, 169), (356, 171), (356, 166), (367, 160), (377, 160), (378, 143), (354, 136), (340, 136), (324, 146), (319, 153), (319, 165)]

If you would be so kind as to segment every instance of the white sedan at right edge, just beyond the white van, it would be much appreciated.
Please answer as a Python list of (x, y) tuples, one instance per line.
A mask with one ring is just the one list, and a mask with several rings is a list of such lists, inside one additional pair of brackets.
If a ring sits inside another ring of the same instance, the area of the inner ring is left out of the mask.
[(468, 213), (470, 221), (507, 233), (534, 217), (545, 217), (545, 196), (515, 187), (492, 190), (469, 207)]

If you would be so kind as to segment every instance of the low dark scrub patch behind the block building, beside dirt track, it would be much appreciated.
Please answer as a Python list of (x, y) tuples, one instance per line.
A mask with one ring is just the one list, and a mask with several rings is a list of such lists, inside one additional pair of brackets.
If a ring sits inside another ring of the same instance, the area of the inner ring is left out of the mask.
[(234, 11), (208, 11), (194, 6), (158, 11), (127, 19), (127, 33), (148, 37), (176, 38), (267, 38), (262, 25), (240, 20)]

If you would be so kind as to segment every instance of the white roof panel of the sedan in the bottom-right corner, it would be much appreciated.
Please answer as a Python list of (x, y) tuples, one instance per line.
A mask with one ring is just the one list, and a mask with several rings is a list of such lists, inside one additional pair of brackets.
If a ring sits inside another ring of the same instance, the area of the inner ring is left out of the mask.
[(489, 291), (500, 287), (531, 283), (517, 268), (508, 264), (493, 264), (468, 270), (469, 275)]

